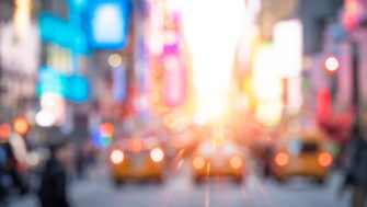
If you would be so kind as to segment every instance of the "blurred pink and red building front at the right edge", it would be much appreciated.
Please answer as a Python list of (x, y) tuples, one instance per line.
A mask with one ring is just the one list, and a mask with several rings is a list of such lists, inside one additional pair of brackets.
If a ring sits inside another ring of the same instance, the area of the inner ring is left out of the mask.
[[(330, 138), (343, 143), (355, 124), (365, 125), (367, 62), (362, 57), (367, 51), (366, 1), (331, 3), (333, 10), (320, 16), (322, 24), (313, 22), (319, 25), (319, 35), (313, 36), (318, 39), (321, 35), (322, 44), (313, 41), (319, 46), (316, 53), (308, 54), (308, 74), (311, 93), (317, 96), (314, 111), (320, 126)], [(331, 57), (337, 66), (333, 70), (328, 66)]]

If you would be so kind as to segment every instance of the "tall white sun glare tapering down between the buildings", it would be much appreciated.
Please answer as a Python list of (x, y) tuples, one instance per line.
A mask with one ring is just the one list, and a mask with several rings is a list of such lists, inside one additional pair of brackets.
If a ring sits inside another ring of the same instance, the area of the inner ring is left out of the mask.
[(187, 0), (182, 7), (185, 39), (193, 58), (196, 110), (208, 120), (221, 117), (228, 111), (243, 1)]

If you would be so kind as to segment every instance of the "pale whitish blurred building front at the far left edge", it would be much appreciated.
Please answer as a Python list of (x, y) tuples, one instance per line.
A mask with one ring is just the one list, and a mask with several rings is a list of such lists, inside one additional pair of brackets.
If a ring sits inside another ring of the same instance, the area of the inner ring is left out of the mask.
[(0, 2), (0, 122), (25, 116), (32, 123), (36, 111), (36, 74), (41, 43), (36, 2)]

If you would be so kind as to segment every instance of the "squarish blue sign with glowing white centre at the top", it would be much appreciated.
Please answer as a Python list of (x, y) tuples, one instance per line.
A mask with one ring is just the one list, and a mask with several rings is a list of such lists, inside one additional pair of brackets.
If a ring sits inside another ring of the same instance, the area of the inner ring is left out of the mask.
[(127, 44), (128, 0), (94, 0), (89, 5), (90, 46), (98, 49), (122, 49)]

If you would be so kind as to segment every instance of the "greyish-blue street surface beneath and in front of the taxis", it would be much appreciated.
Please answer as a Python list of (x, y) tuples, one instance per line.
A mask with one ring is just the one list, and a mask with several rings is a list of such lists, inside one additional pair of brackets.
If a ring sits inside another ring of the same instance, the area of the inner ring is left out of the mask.
[[(348, 195), (336, 198), (341, 175), (333, 174), (325, 186), (308, 180), (295, 179), (284, 184), (261, 180), (249, 173), (242, 186), (231, 180), (213, 179), (200, 185), (191, 180), (188, 164), (184, 163), (164, 183), (128, 182), (114, 185), (107, 168), (100, 165), (89, 177), (73, 181), (71, 203), (76, 207), (346, 207)], [(35, 196), (14, 197), (10, 207), (35, 207)]]

